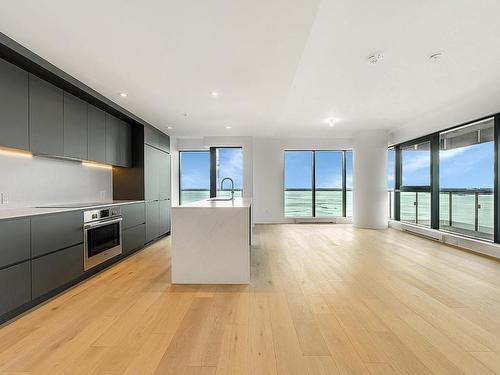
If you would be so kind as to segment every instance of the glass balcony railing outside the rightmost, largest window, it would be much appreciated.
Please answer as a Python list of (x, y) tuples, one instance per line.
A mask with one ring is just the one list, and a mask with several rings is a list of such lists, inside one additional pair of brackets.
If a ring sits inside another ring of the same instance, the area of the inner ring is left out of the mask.
[(493, 189), (442, 189), (439, 227), (442, 230), (493, 240)]

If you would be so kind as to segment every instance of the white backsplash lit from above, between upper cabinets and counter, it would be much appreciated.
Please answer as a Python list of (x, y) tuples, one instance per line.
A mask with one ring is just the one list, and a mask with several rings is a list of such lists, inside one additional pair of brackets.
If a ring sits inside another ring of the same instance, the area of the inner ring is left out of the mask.
[(77, 161), (0, 153), (0, 210), (112, 200), (112, 179), (111, 169)]

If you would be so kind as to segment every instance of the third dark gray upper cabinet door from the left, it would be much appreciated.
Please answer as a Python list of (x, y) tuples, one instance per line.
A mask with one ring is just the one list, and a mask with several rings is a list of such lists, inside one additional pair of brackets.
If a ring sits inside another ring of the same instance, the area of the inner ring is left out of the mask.
[(64, 156), (87, 160), (87, 103), (64, 93)]

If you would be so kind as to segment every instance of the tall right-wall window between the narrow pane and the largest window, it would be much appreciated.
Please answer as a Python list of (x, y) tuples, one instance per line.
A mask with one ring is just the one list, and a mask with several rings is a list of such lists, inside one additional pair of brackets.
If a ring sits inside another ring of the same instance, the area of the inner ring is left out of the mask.
[(430, 141), (401, 147), (400, 219), (424, 226), (431, 224)]

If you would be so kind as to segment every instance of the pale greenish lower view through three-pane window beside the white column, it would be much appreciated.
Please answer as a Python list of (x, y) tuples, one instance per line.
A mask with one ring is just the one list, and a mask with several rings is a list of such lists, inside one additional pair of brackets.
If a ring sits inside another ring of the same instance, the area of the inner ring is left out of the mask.
[[(285, 189), (285, 216), (311, 217), (311, 189)], [(316, 189), (316, 217), (342, 216), (342, 189)], [(346, 189), (346, 216), (352, 216), (352, 189)]]

